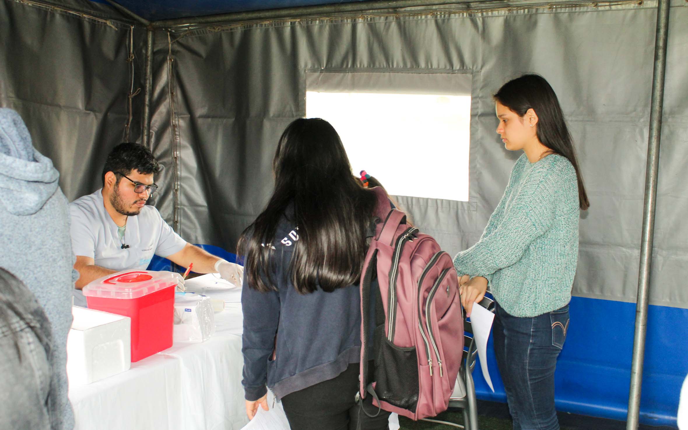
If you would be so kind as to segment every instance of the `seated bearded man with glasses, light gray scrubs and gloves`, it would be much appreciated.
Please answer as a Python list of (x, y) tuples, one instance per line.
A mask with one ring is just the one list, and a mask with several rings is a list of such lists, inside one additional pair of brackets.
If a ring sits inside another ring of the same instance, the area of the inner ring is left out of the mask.
[[(151, 151), (136, 143), (118, 144), (103, 167), (103, 188), (69, 204), (74, 268), (80, 277), (76, 289), (120, 270), (144, 270), (153, 255), (193, 271), (219, 272), (241, 286), (244, 268), (186, 243), (146, 204), (158, 185), (153, 175), (160, 166)], [(181, 277), (178, 277), (183, 283)], [(80, 291), (75, 305), (85, 305)]]

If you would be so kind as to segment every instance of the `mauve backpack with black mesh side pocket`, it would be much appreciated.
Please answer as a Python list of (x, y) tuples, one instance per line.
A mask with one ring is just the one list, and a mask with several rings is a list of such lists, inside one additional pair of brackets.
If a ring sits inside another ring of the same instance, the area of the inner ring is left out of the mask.
[(378, 222), (361, 272), (359, 398), (370, 394), (412, 420), (436, 416), (449, 405), (464, 347), (456, 271), (433, 237), (372, 190)]

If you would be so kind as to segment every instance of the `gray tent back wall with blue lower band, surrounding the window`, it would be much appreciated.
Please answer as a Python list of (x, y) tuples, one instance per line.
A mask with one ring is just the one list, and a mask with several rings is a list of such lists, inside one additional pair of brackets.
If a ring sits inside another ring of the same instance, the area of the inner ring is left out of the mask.
[[(596, 380), (585, 365), (572, 367), (588, 372), (584, 380), (590, 385), (567, 392), (578, 375), (560, 372), (557, 405), (625, 419), (633, 320), (620, 315), (632, 314), (636, 300), (656, 6), (654, 1), (510, 3), (510, 8), (471, 13), (358, 14), (158, 31), (151, 123), (151, 132), (158, 133), (152, 144), (173, 167), (162, 178), (167, 192), (161, 211), (173, 214), (167, 220), (185, 239), (233, 250), (270, 194), (271, 160), (281, 131), (305, 114), (306, 74), (462, 72), (472, 76), (470, 201), (398, 197), (424, 231), (457, 252), (482, 233), (518, 156), (505, 151), (495, 133), (491, 94), (509, 78), (538, 72), (561, 100), (592, 203), (581, 215), (574, 295), (610, 300), (595, 300), (585, 312), (595, 306), (608, 312), (601, 303), (629, 305), (612, 306), (611, 315), (599, 317), (605, 330), (585, 325), (600, 334), (596, 345), (585, 336), (570, 345), (579, 348), (575, 360), (589, 360), (596, 372), (619, 379)], [(682, 189), (688, 179), (682, 168), (688, 155), (684, 3), (674, 1), (670, 19), (650, 303), (660, 310), (676, 308), (678, 316), (667, 316), (669, 321), (688, 321), (688, 289), (683, 288), (688, 226), (681, 222), (688, 210)], [(374, 162), (368, 167), (373, 174)], [(581, 319), (593, 316), (585, 312)], [(623, 321), (620, 333), (609, 319)], [(656, 333), (663, 327), (654, 330), (648, 338), (657, 343), (648, 346), (648, 354), (663, 356), (672, 341)], [(614, 343), (618, 347), (610, 347)], [(675, 351), (688, 353), (684, 343), (674, 345)], [(645, 367), (655, 374), (645, 376), (641, 420), (669, 423), (675, 420), (677, 387), (688, 367), (658, 356), (646, 358)], [(605, 401), (612, 396), (619, 401)], [(592, 406), (582, 406), (585, 402)]]

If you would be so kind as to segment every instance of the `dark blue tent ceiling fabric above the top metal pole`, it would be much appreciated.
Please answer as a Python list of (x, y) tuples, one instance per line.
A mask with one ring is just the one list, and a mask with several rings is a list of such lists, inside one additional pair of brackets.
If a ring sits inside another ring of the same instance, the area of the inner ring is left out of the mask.
[[(105, 0), (92, 1), (105, 3)], [(356, 1), (361, 0), (116, 0), (149, 21)]]

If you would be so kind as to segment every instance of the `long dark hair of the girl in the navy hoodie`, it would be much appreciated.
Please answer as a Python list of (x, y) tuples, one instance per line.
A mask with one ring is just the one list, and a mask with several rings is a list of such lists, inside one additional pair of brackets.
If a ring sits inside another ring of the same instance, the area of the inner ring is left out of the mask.
[[(271, 277), (276, 251), (270, 244), (285, 215), (298, 227), (288, 268), (298, 292), (314, 292), (318, 286), (332, 292), (358, 281), (377, 199), (352, 175), (332, 125), (320, 118), (292, 122), (279, 139), (272, 170), (275, 190), (268, 206), (244, 230), (237, 247), (246, 258), (250, 288), (277, 290)], [(290, 205), (293, 219), (286, 214)]]

